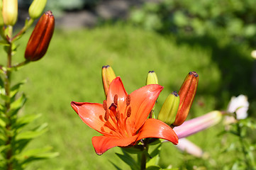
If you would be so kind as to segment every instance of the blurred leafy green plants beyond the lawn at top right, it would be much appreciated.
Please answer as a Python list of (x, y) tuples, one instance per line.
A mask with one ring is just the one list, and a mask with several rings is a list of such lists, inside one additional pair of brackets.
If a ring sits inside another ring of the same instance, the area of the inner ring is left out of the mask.
[(255, 1), (164, 0), (136, 8), (130, 21), (147, 30), (182, 35), (228, 35), (255, 45)]

